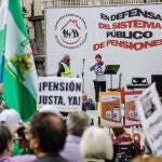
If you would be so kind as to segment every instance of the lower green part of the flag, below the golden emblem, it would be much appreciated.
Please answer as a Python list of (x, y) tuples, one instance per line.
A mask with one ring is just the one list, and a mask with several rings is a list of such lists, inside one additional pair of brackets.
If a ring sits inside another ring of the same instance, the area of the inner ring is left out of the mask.
[[(17, 80), (13, 79), (13, 76), (5, 68), (4, 78), (5, 82), (10, 83), (10, 89), (8, 89), (8, 85), (4, 84), (5, 93), (3, 94), (3, 97), (10, 100), (9, 103), (6, 100), (6, 104), (9, 105), (9, 107), (14, 108), (19, 112), (23, 121), (27, 121), (36, 112), (36, 98), (32, 97), (26, 86), (17, 82)], [(12, 95), (9, 95), (11, 93)], [(18, 96), (22, 97), (17, 99)]]

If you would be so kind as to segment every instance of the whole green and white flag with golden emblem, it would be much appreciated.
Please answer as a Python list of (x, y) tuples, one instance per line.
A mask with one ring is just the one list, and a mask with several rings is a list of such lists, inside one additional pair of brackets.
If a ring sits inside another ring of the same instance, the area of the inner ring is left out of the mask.
[(27, 121), (36, 111), (38, 77), (19, 1), (3, 2), (6, 31), (2, 96), (9, 107)]

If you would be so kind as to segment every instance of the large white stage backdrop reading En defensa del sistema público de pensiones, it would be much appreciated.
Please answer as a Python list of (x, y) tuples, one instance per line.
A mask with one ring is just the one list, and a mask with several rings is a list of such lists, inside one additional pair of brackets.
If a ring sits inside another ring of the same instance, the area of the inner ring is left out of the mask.
[(99, 53), (105, 64), (120, 65), (113, 89), (119, 86), (120, 72), (121, 86), (131, 83), (132, 77), (150, 83), (151, 75), (161, 75), (161, 11), (162, 4), (46, 9), (46, 73), (55, 75), (63, 55), (69, 54), (73, 77), (81, 77), (84, 69), (85, 93), (94, 98), (90, 67)]

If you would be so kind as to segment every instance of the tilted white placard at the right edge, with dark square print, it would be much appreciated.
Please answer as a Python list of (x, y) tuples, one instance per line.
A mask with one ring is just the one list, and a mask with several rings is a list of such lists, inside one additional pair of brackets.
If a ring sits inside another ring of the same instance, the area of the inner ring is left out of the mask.
[(136, 100), (140, 121), (154, 156), (162, 156), (162, 108), (154, 83)]

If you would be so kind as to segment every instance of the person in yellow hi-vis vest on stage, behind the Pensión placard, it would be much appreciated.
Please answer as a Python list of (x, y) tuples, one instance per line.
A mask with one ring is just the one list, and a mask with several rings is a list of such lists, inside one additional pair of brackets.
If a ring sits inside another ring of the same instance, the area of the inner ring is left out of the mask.
[(58, 63), (57, 77), (72, 78), (70, 69), (70, 56), (68, 54), (65, 54), (63, 59)]

